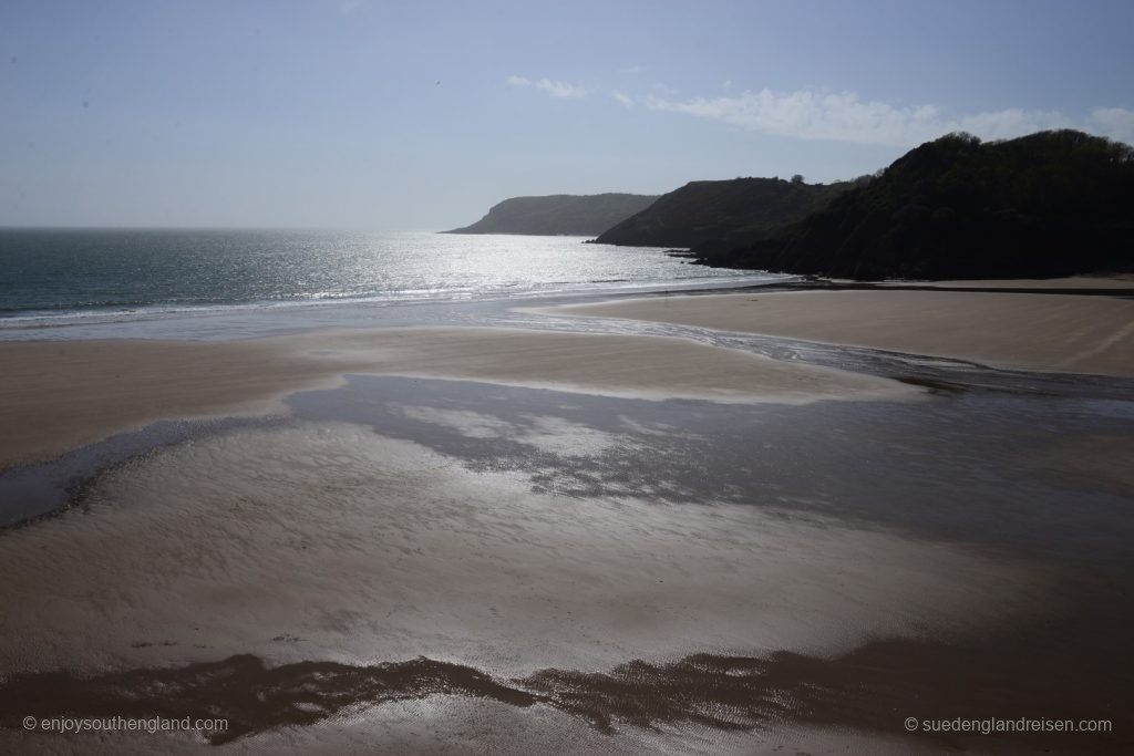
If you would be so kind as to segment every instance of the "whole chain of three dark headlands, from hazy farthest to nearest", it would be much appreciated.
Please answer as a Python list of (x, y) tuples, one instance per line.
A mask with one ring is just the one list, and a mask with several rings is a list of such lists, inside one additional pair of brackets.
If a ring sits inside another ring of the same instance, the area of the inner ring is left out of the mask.
[(1134, 272), (1134, 147), (1070, 129), (956, 133), (873, 175), (691, 181), (661, 196), (514, 197), (447, 233), (595, 236), (693, 262), (858, 280)]

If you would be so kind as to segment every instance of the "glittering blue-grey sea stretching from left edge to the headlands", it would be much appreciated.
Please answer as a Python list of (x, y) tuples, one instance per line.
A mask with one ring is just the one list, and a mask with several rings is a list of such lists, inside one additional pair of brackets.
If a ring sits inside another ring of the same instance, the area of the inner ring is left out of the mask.
[(729, 286), (711, 269), (585, 237), (264, 229), (0, 229), (0, 338), (235, 311), (532, 299)]

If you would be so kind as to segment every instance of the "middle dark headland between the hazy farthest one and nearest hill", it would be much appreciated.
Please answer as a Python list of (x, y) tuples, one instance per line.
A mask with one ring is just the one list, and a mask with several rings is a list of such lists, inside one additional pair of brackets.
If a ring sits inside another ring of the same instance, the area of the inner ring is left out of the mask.
[(600, 235), (600, 244), (733, 248), (767, 238), (827, 205), (847, 184), (777, 178), (691, 181)]

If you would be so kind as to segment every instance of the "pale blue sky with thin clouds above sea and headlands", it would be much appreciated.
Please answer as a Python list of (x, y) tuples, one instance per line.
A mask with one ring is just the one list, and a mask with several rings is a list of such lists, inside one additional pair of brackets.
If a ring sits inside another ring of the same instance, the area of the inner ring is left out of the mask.
[(1134, 2), (3, 0), (0, 226), (439, 230), (510, 196), (1134, 143)]

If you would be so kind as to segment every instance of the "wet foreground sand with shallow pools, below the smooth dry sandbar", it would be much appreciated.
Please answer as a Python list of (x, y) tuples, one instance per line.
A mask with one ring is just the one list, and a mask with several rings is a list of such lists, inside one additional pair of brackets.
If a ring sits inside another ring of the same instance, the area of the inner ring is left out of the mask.
[[(816, 727), (937, 750), (956, 741), (907, 740), (905, 716), (1128, 723), (1134, 491), (1093, 464), (1132, 448), (1127, 401), (352, 376), (288, 406), (111, 453), (61, 489), (77, 507), (0, 534), (3, 668), (24, 672), (6, 711), (212, 706), (237, 742), (325, 748), (473, 716), (450, 742), (517, 751), (830, 745)], [(1127, 744), (1083, 738), (976, 742)]]

